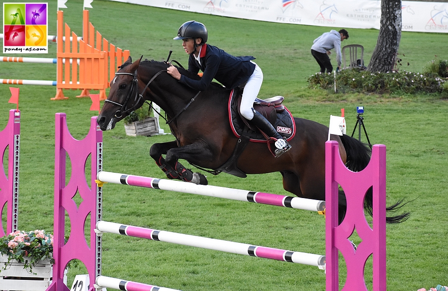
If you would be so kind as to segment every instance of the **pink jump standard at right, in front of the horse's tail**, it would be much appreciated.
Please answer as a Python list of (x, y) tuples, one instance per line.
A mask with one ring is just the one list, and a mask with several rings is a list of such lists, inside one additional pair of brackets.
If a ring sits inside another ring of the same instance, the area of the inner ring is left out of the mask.
[[(338, 143), (325, 145), (326, 291), (339, 291), (338, 250), (347, 264), (347, 280), (342, 291), (367, 291), (364, 269), (373, 254), (373, 291), (386, 291), (386, 146), (374, 145), (369, 165), (352, 172), (342, 163)], [(354, 183), (356, 181), (356, 183)], [(347, 214), (338, 226), (338, 184), (347, 198)], [(364, 196), (373, 186), (373, 229), (363, 211)], [(356, 229), (362, 242), (356, 251), (349, 237)]]

